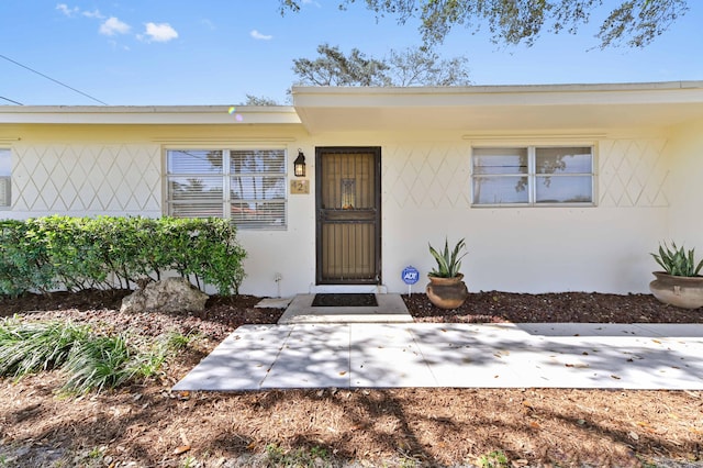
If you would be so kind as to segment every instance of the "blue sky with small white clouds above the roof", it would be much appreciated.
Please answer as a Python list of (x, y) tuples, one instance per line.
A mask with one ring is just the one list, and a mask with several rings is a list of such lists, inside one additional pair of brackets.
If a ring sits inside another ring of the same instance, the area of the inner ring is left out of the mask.
[[(596, 48), (595, 16), (577, 36), (543, 33), (533, 47), (498, 46), (486, 27), (459, 26), (438, 52), (466, 56), (475, 85), (700, 80), (703, 2), (689, 4), (644, 49)], [(0, 55), (111, 105), (232, 105), (247, 93), (286, 103), (292, 60), (315, 58), (321, 43), (377, 58), (421, 44), (415, 24), (337, 5), (306, 0), (281, 16), (278, 0), (0, 0)], [(0, 97), (0, 104), (99, 104), (5, 58)]]

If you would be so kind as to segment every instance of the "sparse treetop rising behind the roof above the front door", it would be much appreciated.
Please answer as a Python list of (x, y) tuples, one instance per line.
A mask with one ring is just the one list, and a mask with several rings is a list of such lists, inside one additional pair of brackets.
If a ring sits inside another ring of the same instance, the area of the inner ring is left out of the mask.
[(345, 55), (336, 46), (321, 44), (315, 59), (297, 58), (293, 71), (299, 85), (312, 86), (466, 86), (466, 57), (440, 59), (426, 48), (391, 51), (389, 58), (367, 57), (357, 48)]

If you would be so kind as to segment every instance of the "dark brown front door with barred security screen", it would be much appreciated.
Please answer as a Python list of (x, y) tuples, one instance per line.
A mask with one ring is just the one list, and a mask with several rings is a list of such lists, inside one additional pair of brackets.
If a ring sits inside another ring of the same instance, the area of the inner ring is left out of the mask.
[(317, 285), (381, 283), (381, 148), (315, 149)]

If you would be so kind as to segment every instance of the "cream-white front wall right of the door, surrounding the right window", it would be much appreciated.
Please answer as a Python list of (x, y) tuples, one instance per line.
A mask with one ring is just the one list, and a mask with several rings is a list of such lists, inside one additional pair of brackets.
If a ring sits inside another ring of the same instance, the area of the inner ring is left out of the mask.
[(666, 141), (593, 143), (598, 205), (585, 208), (471, 208), (471, 142), (384, 147), (383, 278), (389, 290), (406, 291), (400, 279), (406, 265), (424, 279), (434, 266), (427, 243), (439, 247), (446, 235), (450, 246), (466, 237), (462, 272), (469, 290), (648, 291), (648, 253), (666, 234)]

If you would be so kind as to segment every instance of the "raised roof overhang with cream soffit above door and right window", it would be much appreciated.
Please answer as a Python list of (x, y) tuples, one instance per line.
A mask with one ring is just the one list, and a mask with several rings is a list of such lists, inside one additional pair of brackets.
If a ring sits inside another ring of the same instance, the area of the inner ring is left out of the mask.
[(703, 119), (703, 81), (461, 88), (293, 88), (310, 133), (669, 127)]

